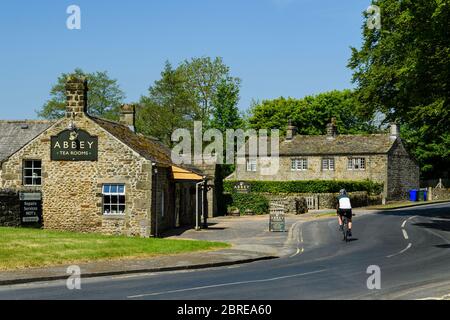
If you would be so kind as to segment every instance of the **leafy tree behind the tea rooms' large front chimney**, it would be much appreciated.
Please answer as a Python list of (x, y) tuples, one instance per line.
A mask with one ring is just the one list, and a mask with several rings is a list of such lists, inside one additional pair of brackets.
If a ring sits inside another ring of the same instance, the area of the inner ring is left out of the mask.
[(120, 89), (117, 80), (111, 79), (106, 71), (85, 73), (81, 69), (75, 69), (73, 73), (63, 73), (58, 77), (57, 83), (50, 91), (50, 100), (37, 111), (40, 118), (59, 119), (64, 116), (66, 109), (65, 86), (67, 77), (71, 74), (84, 76), (88, 81), (89, 114), (113, 120), (119, 118), (119, 108), (125, 99), (125, 94)]

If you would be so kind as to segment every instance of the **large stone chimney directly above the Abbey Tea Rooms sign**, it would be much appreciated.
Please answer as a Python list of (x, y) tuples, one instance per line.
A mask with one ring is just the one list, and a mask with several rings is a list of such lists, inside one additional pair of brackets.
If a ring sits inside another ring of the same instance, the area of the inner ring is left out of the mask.
[(66, 81), (66, 117), (82, 117), (87, 114), (87, 80), (70, 75)]

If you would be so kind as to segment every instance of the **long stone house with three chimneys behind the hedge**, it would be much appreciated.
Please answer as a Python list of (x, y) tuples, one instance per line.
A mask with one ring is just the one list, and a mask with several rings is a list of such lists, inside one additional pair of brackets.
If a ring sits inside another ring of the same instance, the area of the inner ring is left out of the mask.
[(387, 200), (406, 199), (419, 187), (419, 166), (405, 149), (398, 127), (387, 134), (339, 135), (334, 120), (326, 135), (296, 134), (289, 126), (280, 142), (279, 170), (262, 175), (261, 161), (250, 157), (237, 161), (228, 180), (366, 180), (384, 184)]

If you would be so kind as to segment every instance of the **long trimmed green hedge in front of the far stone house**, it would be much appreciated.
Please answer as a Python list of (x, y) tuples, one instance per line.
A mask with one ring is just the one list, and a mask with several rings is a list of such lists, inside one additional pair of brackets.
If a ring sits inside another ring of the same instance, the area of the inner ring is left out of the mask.
[[(237, 181), (224, 181), (225, 192), (234, 193)], [(341, 189), (347, 192), (367, 191), (369, 194), (380, 194), (383, 184), (370, 180), (303, 180), (303, 181), (246, 181), (251, 193), (337, 193)]]

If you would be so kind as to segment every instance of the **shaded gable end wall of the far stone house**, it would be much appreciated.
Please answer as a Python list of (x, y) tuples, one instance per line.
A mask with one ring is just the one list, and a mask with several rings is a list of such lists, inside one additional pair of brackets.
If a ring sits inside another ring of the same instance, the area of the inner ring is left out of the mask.
[(387, 200), (408, 199), (411, 189), (419, 188), (420, 168), (410, 157), (401, 140), (397, 140), (388, 156)]

